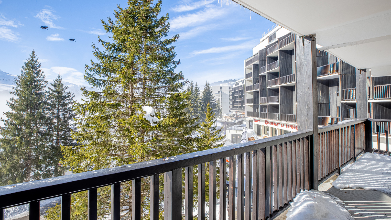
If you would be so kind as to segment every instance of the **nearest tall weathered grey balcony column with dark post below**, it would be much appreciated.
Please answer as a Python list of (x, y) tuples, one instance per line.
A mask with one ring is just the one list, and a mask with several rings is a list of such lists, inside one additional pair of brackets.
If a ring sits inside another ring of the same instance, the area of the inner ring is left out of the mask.
[(318, 189), (318, 94), (317, 94), (317, 65), (316, 38), (307, 36), (300, 38), (296, 35), (296, 96), (298, 130), (313, 130), (310, 142), (309, 187)]

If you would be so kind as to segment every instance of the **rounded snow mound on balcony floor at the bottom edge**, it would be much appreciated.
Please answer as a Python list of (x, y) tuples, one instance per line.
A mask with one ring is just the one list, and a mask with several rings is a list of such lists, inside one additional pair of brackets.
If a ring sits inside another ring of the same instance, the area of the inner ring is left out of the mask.
[(301, 191), (291, 202), (287, 220), (353, 220), (350, 213), (340, 205), (341, 200), (336, 199), (313, 189)]

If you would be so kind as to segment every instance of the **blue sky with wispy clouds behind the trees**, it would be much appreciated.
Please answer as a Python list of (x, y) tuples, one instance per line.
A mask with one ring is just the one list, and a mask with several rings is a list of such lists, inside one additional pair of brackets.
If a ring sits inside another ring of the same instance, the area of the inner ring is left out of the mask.
[[(117, 4), (126, 0), (1, 0), (0, 69), (19, 74), (23, 61), (35, 50), (47, 79), (59, 72), (70, 83), (88, 85), (84, 65), (93, 59), (91, 44), (109, 36), (100, 19), (113, 18)], [(175, 43), (178, 71), (200, 85), (243, 78), (243, 60), (252, 55), (272, 22), (237, 6), (217, 0), (163, 0), (161, 14), (170, 14), (169, 35)], [(48, 26), (49, 30), (40, 26)], [(69, 41), (76, 39), (76, 42)], [(100, 46), (99, 44), (97, 44)]]

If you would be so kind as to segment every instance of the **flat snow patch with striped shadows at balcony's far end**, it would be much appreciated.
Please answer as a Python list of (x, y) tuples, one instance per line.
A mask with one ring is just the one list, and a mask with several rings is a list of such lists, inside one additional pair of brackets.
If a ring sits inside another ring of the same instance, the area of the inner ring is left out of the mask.
[(364, 188), (391, 194), (391, 156), (365, 153), (334, 182), (337, 189)]

